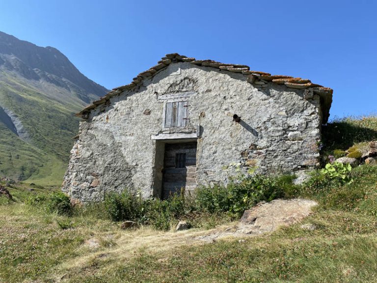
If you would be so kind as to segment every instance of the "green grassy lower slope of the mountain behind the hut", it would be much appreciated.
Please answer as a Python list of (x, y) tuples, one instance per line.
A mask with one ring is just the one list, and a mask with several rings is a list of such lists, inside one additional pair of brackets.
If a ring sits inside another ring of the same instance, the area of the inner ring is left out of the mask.
[[(55, 92), (56, 93), (56, 92)], [(74, 113), (84, 104), (66, 103), (27, 85), (20, 78), (4, 76), (0, 81), (0, 105), (15, 113), (28, 133), (22, 140), (0, 123), (0, 175), (58, 185), (66, 169), (79, 119)]]

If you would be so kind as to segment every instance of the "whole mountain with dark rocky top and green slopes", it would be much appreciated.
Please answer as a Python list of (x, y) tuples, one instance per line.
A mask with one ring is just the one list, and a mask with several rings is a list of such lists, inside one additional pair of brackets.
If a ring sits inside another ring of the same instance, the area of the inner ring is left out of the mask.
[(107, 92), (57, 49), (0, 32), (0, 177), (58, 184), (78, 132), (74, 113)]

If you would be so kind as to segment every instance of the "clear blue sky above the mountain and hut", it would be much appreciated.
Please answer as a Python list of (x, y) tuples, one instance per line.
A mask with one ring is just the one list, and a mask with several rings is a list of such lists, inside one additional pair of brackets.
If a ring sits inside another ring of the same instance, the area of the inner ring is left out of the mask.
[(0, 30), (59, 49), (107, 88), (173, 52), (307, 78), (334, 89), (334, 118), (377, 113), (376, 11), (373, 0), (0, 0)]

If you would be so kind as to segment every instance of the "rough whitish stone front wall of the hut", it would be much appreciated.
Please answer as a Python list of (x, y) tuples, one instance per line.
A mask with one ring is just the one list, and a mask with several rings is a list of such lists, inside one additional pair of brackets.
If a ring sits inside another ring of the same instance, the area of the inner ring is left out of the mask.
[[(188, 99), (186, 132), (201, 129), (198, 184), (226, 182), (237, 167), (284, 173), (317, 166), (318, 95), (273, 83), (261, 88), (239, 73), (180, 62), (112, 97), (81, 122), (63, 191), (83, 202), (125, 188), (145, 197), (158, 195), (154, 178), (162, 166), (159, 161), (155, 166), (156, 141), (151, 139), (162, 133), (163, 100), (157, 98), (188, 91), (196, 94)], [(235, 113), (240, 123), (233, 121)]]

